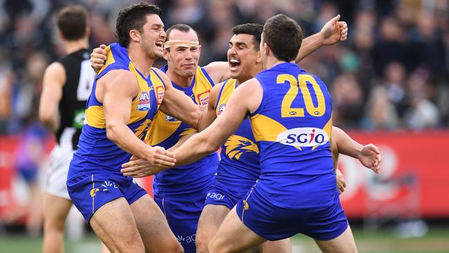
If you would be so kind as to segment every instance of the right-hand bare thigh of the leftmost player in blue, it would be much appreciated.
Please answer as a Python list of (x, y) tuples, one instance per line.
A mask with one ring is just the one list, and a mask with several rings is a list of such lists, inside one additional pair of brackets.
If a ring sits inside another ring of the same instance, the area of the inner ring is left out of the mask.
[(131, 204), (147, 252), (183, 252), (161, 209), (148, 194)]

